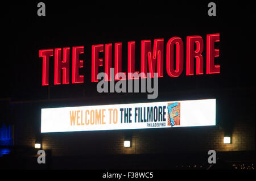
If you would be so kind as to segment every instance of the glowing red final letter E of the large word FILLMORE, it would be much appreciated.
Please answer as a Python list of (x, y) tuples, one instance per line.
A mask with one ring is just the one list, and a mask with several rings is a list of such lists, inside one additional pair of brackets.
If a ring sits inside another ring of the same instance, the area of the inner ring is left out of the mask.
[(219, 74), (220, 65), (214, 65), (214, 57), (220, 56), (220, 50), (214, 49), (214, 43), (220, 41), (220, 33), (207, 35), (207, 74)]

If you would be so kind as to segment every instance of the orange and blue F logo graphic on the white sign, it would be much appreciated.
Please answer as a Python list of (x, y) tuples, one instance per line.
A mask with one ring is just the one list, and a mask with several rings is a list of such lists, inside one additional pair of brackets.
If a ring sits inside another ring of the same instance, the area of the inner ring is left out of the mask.
[(168, 103), (168, 126), (180, 125), (180, 103)]

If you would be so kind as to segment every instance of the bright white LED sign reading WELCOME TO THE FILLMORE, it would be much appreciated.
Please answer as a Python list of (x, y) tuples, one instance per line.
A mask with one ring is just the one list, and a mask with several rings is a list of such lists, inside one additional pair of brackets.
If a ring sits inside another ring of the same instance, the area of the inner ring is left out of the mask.
[(41, 132), (216, 125), (216, 99), (43, 108)]

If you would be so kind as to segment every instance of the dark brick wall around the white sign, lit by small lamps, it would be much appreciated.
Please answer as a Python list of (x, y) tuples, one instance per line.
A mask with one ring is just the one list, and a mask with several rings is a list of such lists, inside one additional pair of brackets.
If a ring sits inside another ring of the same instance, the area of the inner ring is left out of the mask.
[[(40, 108), (46, 105), (38, 102), (15, 104), (15, 145), (33, 148), (35, 140), (42, 138), (42, 148), (51, 150), (53, 156), (169, 154), (211, 149), (255, 151), (255, 107), (248, 104), (250, 100), (246, 96), (232, 96), (236, 99), (228, 98), (229, 104), (222, 102), (221, 107), (217, 103), (216, 126), (128, 131), (40, 133)], [(240, 104), (246, 106), (237, 107)], [(65, 103), (67, 105), (70, 104)], [(232, 134), (232, 144), (223, 143), (226, 132)], [(127, 134), (131, 136), (131, 148), (123, 147)]]

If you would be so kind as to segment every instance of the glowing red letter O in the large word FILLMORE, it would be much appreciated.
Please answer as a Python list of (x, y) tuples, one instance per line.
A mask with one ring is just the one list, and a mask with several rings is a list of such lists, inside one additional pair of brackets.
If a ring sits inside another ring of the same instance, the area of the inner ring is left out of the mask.
[[(174, 45), (176, 45), (176, 69), (174, 69)], [(183, 71), (183, 41), (172, 37), (166, 48), (166, 70), (170, 77), (179, 77)]]

